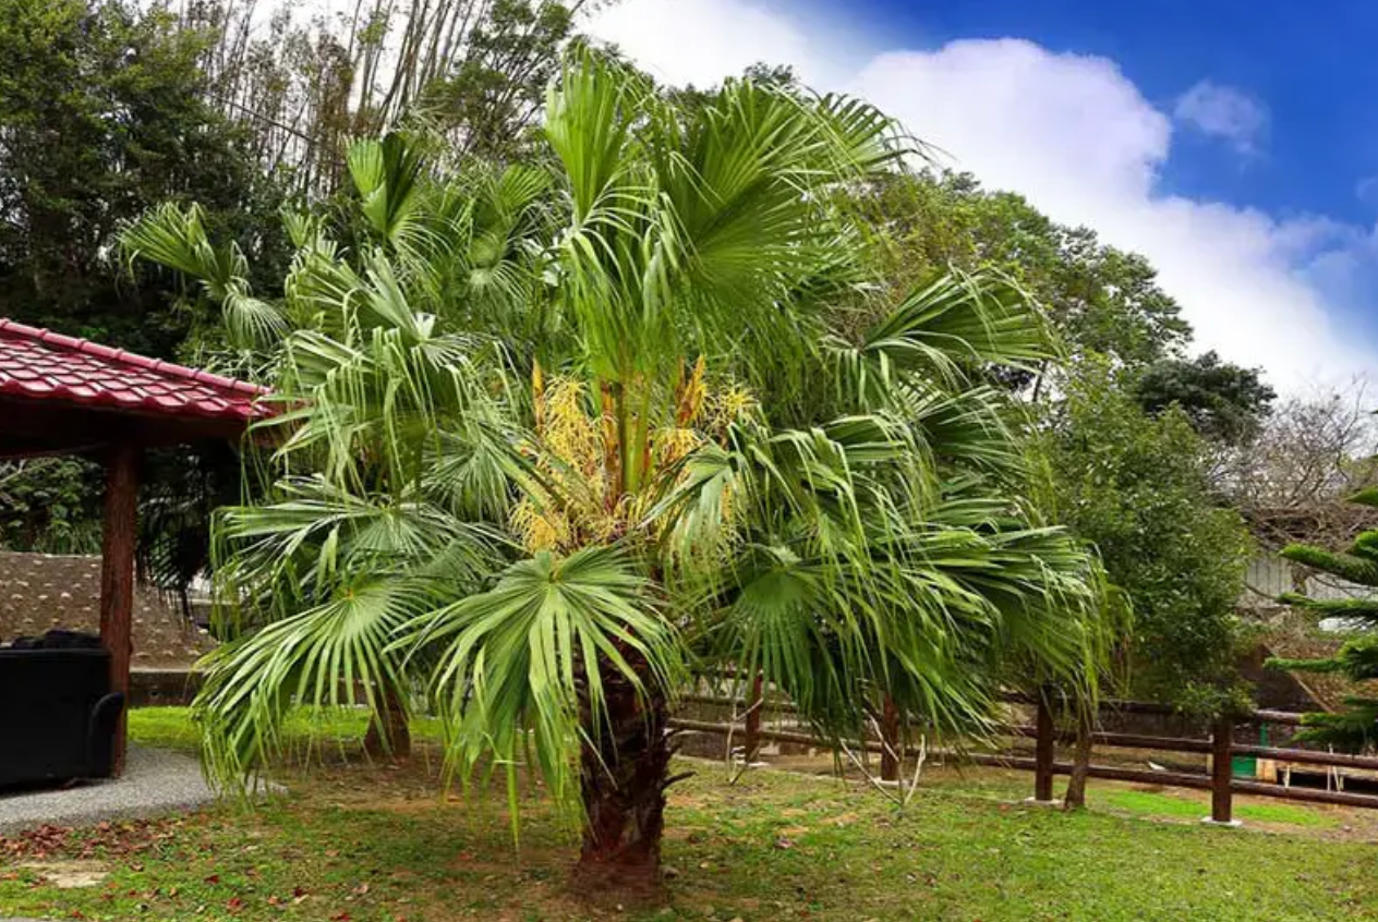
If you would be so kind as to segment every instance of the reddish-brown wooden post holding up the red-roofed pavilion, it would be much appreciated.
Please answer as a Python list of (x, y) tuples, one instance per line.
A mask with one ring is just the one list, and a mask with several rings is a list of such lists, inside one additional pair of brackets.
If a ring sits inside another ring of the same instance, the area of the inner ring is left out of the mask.
[(105, 529), (101, 542), (101, 641), (110, 650), (110, 689), (125, 707), (114, 730), (112, 775), (124, 772), (125, 711), (130, 701), (130, 657), (134, 652), (134, 547), (138, 540), (139, 451), (132, 442), (114, 447), (106, 460)]

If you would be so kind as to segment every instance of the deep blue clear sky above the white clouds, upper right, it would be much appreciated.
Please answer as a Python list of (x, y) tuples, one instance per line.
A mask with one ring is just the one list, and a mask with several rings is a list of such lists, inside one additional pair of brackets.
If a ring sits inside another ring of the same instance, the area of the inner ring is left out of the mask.
[(1357, 194), (1378, 174), (1378, 3), (867, 0), (852, 15), (876, 45), (897, 36), (926, 47), (1017, 36), (1102, 55), (1164, 107), (1203, 79), (1235, 87), (1266, 114), (1255, 156), (1242, 161), (1209, 139), (1184, 138), (1166, 189), (1357, 222), (1378, 214), (1378, 187), (1367, 201)]

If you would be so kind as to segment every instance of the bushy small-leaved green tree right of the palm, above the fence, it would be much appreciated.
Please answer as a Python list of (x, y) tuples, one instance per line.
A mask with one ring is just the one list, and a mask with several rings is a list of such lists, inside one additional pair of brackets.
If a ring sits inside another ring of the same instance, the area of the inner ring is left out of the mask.
[(1067, 383), (1042, 437), (1045, 507), (1094, 543), (1134, 611), (1134, 693), (1218, 710), (1237, 688), (1235, 602), (1251, 540), (1220, 504), (1185, 412), (1148, 416), (1104, 365)]

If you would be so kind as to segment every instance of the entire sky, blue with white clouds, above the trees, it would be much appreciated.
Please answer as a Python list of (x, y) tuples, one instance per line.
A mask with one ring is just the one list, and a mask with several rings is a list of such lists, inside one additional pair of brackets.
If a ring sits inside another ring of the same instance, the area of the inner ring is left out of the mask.
[(671, 83), (765, 61), (870, 99), (1146, 255), (1196, 349), (1284, 391), (1378, 373), (1378, 3), (620, 0), (588, 28)]

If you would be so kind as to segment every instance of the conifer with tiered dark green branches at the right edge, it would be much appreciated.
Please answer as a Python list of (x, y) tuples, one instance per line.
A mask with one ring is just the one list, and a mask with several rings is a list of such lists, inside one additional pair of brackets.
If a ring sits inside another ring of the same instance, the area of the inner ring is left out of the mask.
[[(1366, 489), (1350, 498), (1352, 503), (1378, 506), (1378, 489)], [(1357, 586), (1378, 588), (1378, 531), (1366, 531), (1355, 537), (1345, 551), (1328, 551), (1308, 544), (1283, 549), (1283, 557), (1313, 571), (1331, 573)], [(1339, 622), (1346, 639), (1334, 656), (1319, 660), (1272, 659), (1269, 666), (1312, 673), (1339, 673), (1350, 682), (1378, 679), (1378, 597), (1310, 598), (1301, 593), (1287, 593), (1279, 601), (1312, 615), (1317, 624), (1324, 619)], [(1326, 743), (1350, 751), (1364, 750), (1378, 743), (1378, 697), (1352, 695), (1345, 699), (1345, 710), (1308, 714), (1298, 740)]]

